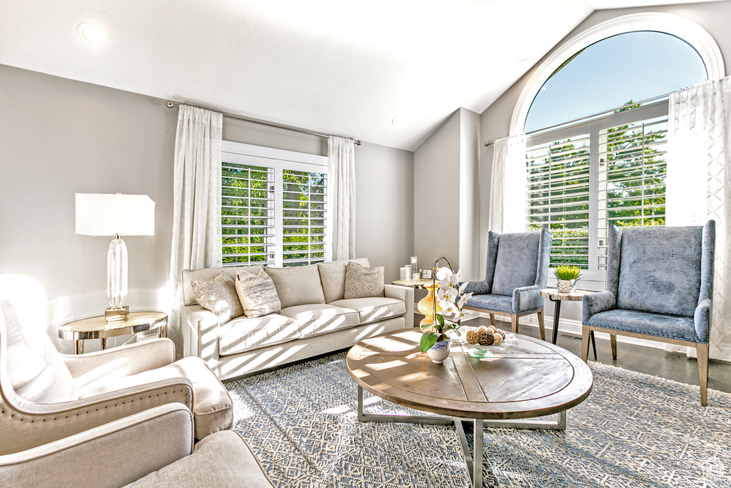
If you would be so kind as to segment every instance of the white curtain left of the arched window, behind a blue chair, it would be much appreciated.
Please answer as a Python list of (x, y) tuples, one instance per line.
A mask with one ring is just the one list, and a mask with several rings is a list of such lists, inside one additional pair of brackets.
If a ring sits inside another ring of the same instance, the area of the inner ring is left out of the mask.
[(493, 144), (488, 227), (498, 233), (526, 231), (526, 135)]

